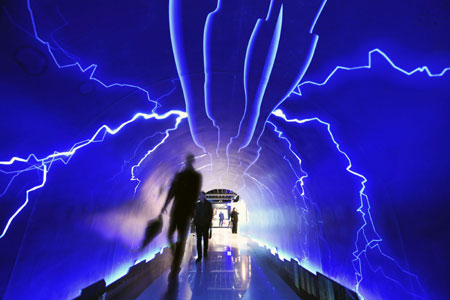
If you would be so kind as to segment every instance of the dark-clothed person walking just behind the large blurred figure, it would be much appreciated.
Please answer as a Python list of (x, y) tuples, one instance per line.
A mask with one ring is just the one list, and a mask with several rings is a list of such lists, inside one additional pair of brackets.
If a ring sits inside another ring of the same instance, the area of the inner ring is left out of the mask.
[(195, 208), (194, 223), (197, 233), (197, 262), (202, 259), (202, 240), (203, 240), (203, 257), (208, 257), (208, 238), (209, 229), (212, 221), (212, 205), (206, 200), (204, 192), (200, 193), (200, 201)]

